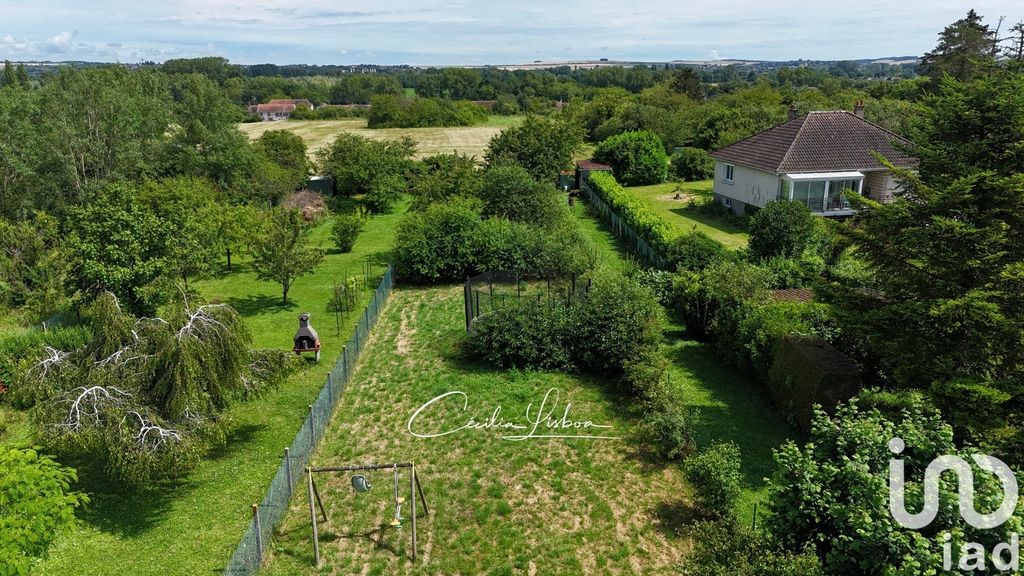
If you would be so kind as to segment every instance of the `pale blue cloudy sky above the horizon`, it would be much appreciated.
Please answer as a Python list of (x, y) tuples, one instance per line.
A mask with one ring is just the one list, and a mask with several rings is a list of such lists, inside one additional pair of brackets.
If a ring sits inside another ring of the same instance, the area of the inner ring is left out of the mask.
[(1020, 0), (0, 0), (0, 59), (524, 64), (920, 55)]

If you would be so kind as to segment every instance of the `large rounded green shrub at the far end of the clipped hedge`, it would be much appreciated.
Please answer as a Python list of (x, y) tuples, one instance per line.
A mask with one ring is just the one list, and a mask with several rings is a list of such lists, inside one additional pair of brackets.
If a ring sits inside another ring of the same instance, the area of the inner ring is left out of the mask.
[(669, 158), (657, 134), (648, 130), (624, 132), (597, 146), (594, 159), (611, 166), (627, 186), (664, 182), (669, 175)]

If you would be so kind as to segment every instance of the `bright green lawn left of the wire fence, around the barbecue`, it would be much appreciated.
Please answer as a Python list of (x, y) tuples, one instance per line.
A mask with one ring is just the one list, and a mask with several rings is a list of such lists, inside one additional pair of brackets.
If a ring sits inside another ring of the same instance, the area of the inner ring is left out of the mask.
[[(263, 498), (284, 448), (291, 444), (306, 406), (315, 399), (354, 326), (353, 315), (342, 325), (341, 334), (335, 333), (334, 317), (327, 312), (335, 280), (346, 271), (357, 274), (367, 256), (383, 260), (406, 206), (408, 201), (392, 214), (372, 216), (349, 254), (332, 249), (329, 221), (318, 224), (314, 241), (329, 253), (312, 275), (296, 281), (288, 306), (280, 303), (280, 286), (256, 280), (246, 256), (232, 258), (238, 266), (231, 274), (198, 282), (197, 289), (208, 299), (239, 307), (257, 346), (290, 349), (298, 315), (311, 312), (324, 361), (266, 396), (230, 408), (226, 415), (233, 431), (227, 445), (180, 482), (129, 494), (106, 483), (99, 470), (80, 467), (78, 488), (90, 493), (92, 503), (80, 515), (81, 528), (60, 537), (33, 574), (219, 574), (249, 524), (250, 506)], [(375, 274), (382, 269), (377, 265)], [(358, 310), (371, 293), (364, 292)]]

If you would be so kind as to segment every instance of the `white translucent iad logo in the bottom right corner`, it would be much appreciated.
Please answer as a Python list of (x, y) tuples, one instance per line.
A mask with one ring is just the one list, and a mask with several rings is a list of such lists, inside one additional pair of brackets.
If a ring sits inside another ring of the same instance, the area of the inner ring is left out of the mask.
[[(889, 441), (889, 450), (893, 454), (902, 454), (906, 444), (899, 438)], [(906, 510), (905, 501), (905, 469), (903, 460), (889, 460), (889, 511), (893, 519), (904, 527), (911, 530), (920, 530), (935, 521), (939, 513), (939, 477), (942, 472), (952, 470), (956, 472), (956, 493), (959, 504), (961, 518), (969, 525), (979, 530), (988, 530), (1002, 526), (1017, 509), (1017, 476), (1014, 471), (998, 458), (983, 454), (972, 454), (971, 458), (984, 470), (988, 470), (999, 479), (1002, 485), (1002, 502), (999, 507), (992, 512), (979, 513), (974, 508), (974, 470), (967, 460), (959, 456), (939, 456), (932, 460), (925, 469), (925, 505), (916, 513)], [(952, 550), (949, 543), (950, 537), (945, 535), (942, 545), (943, 569), (952, 569)], [(1010, 560), (1005, 560), (1006, 552), (1010, 552)], [(961, 570), (985, 570), (985, 548), (976, 542), (964, 544), (961, 550)], [(1019, 544), (1018, 535), (1013, 534), (1011, 541), (997, 544), (992, 549), (992, 564), (1000, 571), (1017, 570)]]

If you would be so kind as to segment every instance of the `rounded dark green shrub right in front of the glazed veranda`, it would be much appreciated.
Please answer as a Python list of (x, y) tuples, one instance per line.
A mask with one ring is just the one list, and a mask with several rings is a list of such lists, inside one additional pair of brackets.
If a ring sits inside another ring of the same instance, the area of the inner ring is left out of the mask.
[(810, 245), (815, 228), (814, 216), (807, 206), (772, 200), (751, 218), (751, 254), (761, 260), (799, 256)]

